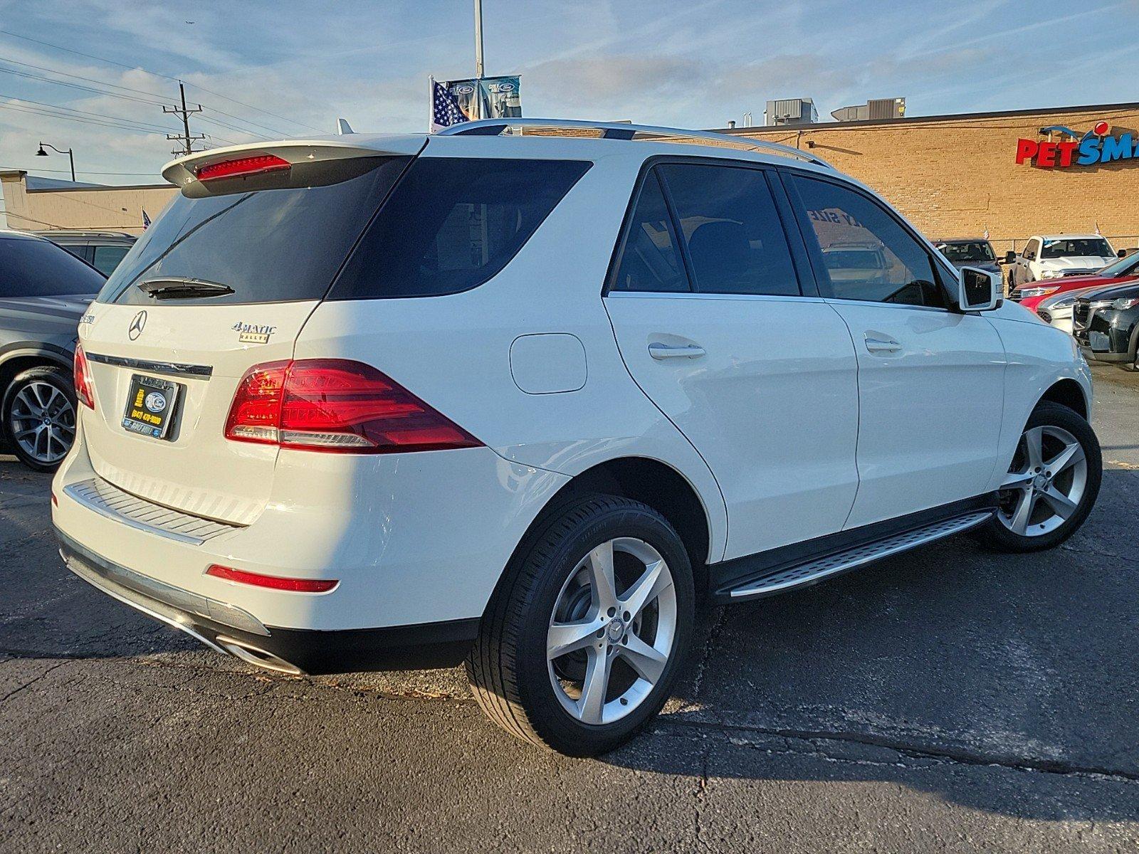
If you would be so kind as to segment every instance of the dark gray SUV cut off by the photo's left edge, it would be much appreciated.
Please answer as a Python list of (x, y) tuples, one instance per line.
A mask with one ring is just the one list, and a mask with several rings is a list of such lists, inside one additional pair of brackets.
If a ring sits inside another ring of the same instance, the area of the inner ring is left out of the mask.
[(105, 280), (50, 240), (0, 230), (0, 450), (40, 471), (75, 438), (77, 327)]

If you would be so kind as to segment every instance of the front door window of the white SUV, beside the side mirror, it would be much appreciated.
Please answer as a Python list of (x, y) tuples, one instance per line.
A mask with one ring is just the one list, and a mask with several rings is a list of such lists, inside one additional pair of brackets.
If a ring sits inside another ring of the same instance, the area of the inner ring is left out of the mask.
[(790, 180), (818, 244), (823, 296), (945, 307), (929, 253), (886, 208), (829, 181)]

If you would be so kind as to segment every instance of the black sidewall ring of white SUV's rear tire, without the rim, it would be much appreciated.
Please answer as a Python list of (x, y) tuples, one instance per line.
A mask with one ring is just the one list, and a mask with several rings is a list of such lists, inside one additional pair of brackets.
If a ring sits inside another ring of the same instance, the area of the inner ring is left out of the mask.
[[(546, 637), (550, 614), (566, 578), (591, 549), (620, 536), (644, 540), (667, 563), (677, 593), (677, 632), (664, 673), (644, 703), (611, 724), (584, 724), (565, 711), (554, 692), (547, 670)], [(598, 512), (564, 537), (530, 591), (518, 637), (518, 693), (538, 734), (555, 749), (579, 756), (605, 753), (628, 740), (669, 699), (690, 646), (694, 611), (695, 592), (688, 555), (672, 526), (649, 508), (626, 506)]]

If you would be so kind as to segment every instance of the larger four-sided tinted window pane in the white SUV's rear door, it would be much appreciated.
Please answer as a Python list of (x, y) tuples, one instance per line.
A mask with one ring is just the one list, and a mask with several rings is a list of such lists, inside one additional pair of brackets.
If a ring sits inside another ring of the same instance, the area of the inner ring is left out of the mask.
[(768, 179), (760, 170), (659, 166), (705, 294), (798, 296), (798, 281)]

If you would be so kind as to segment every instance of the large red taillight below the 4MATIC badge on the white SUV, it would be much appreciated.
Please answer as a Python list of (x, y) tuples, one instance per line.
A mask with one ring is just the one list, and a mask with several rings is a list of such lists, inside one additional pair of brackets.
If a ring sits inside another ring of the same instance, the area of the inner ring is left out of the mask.
[(251, 368), (233, 394), (226, 438), (341, 453), (482, 444), (375, 368), (341, 359)]

